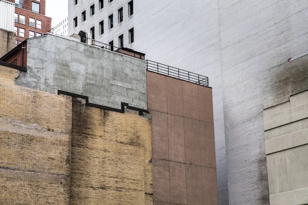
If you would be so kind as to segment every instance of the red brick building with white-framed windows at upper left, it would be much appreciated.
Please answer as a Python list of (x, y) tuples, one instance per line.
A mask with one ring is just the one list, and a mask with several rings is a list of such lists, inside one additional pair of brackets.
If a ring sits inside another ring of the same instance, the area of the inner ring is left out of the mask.
[(8, 1), (15, 3), (16, 45), (51, 29), (51, 18), (45, 16), (45, 0)]

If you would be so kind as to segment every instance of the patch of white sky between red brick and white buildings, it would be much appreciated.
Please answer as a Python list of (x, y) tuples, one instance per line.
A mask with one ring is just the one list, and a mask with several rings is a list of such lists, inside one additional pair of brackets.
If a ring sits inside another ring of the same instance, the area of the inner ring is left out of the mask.
[(46, 16), (52, 18), (52, 27), (68, 15), (68, 0), (46, 0)]

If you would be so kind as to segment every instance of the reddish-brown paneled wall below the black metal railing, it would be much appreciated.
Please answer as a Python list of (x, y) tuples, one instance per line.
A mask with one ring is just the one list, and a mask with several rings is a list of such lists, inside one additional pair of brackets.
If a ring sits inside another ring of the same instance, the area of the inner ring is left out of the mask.
[(218, 204), (211, 88), (147, 72), (153, 204)]

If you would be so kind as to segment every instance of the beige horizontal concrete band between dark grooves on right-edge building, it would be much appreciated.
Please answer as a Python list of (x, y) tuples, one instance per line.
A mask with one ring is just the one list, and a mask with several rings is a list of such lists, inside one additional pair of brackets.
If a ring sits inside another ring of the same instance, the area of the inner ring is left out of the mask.
[(266, 154), (272, 154), (286, 149), (291, 149), (308, 144), (308, 129), (283, 135), (274, 139), (265, 140)]

